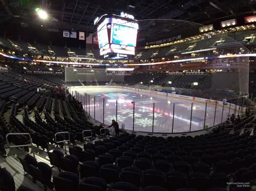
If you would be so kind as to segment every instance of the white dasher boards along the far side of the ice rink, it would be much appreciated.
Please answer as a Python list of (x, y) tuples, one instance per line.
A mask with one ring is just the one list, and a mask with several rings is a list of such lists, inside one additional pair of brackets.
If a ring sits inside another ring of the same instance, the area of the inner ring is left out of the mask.
[[(193, 97), (193, 96), (171, 94), (171, 93), (167, 94), (165, 92), (160, 92), (160, 91), (146, 90), (146, 89), (139, 89), (139, 88), (131, 88), (131, 87), (125, 87), (125, 86), (70, 86), (69, 87), (70, 92), (71, 92), (71, 89), (87, 89), (87, 88), (120, 88), (120, 89), (129, 89), (129, 90), (139, 91), (139, 92), (143, 92), (143, 93), (147, 93), (147, 94), (154, 94), (154, 95), (161, 95), (161, 96), (165, 96), (165, 97), (178, 98), (180, 100), (199, 102), (199, 103), (207, 102), (207, 104), (211, 104), (211, 105), (215, 105), (216, 102), (217, 102), (218, 106), (223, 107), (223, 102), (217, 101), (217, 100), (210, 100), (210, 99), (205, 99), (205, 98), (201, 98), (201, 97)], [(228, 102), (226, 102), (226, 103), (227, 103), (227, 105), (224, 105), (224, 108), (230, 108), (232, 110), (235, 110), (235, 104), (228, 103)], [(241, 107), (239, 105), (237, 105), (237, 107), (239, 107), (239, 111), (240, 111)], [(245, 109), (246, 108), (244, 107), (243, 110), (245, 110)]]

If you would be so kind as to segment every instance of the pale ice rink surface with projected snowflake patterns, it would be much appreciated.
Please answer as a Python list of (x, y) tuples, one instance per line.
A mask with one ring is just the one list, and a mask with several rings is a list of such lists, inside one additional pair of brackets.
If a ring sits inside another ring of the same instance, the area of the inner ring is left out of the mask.
[[(161, 133), (170, 133), (172, 131), (188, 132), (190, 128), (191, 131), (197, 131), (204, 129), (204, 123), (207, 128), (213, 126), (213, 124), (217, 125), (221, 123), (221, 119), (224, 122), (229, 113), (229, 108), (223, 107), (221, 102), (217, 105), (208, 103), (206, 107), (206, 104), (203, 102), (167, 97), (137, 90), (83, 87), (72, 88), (72, 91), (77, 91), (83, 96), (86, 95), (85, 97), (82, 96), (82, 98), (79, 98), (79, 100), (82, 101), (84, 109), (90, 114), (92, 119), (103, 122), (104, 118), (104, 124), (107, 125), (111, 124), (112, 119), (117, 119), (119, 128), (124, 124), (125, 129), (129, 130), (133, 129), (132, 102), (134, 102), (135, 131), (152, 132), (152, 127), (153, 132)], [(103, 105), (105, 105), (104, 109)], [(233, 110), (230, 111), (230, 115), (232, 112)]]

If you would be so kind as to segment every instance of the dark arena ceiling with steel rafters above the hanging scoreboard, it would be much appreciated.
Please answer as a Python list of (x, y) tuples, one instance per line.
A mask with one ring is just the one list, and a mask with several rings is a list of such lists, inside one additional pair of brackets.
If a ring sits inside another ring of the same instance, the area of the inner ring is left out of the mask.
[(208, 24), (218, 18), (256, 13), (256, 0), (0, 0), (0, 22), (26, 27), (36, 22), (35, 9), (50, 15), (49, 27), (93, 32), (93, 20), (106, 13), (127, 12), (141, 19), (179, 19)]

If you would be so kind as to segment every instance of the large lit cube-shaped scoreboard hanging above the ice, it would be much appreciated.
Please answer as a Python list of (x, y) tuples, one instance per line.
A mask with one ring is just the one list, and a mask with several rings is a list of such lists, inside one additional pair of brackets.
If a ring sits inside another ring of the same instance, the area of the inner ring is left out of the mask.
[(95, 21), (102, 57), (124, 59), (134, 56), (139, 25), (137, 20), (128, 16), (107, 14)]

